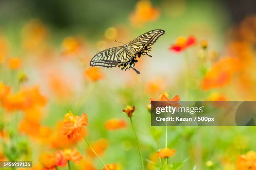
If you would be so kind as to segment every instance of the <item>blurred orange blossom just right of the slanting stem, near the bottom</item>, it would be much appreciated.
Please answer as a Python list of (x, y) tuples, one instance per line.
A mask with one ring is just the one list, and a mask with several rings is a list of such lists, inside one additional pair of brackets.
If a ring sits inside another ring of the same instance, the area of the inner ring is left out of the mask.
[[(92, 148), (95, 150), (95, 152), (99, 156), (102, 156), (105, 150), (108, 148), (108, 140), (106, 139), (97, 140), (95, 143), (92, 143)], [(96, 157), (95, 153), (93, 153), (90, 148), (87, 148), (87, 153), (91, 157)]]

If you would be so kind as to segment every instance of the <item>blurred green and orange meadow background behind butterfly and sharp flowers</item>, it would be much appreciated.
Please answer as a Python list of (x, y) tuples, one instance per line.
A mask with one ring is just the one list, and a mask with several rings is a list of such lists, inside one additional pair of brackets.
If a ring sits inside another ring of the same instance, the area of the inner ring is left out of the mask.
[[(150, 126), (151, 97), (166, 91), (184, 101), (256, 100), (255, 6), (255, 0), (0, 0), (0, 160), (32, 160), (41, 169), (44, 152), (76, 147), (83, 159), (74, 169), (102, 169), (81, 136), (63, 135), (71, 110), (88, 114), (87, 138), (106, 163), (139, 169), (122, 112), (135, 105), (145, 167), (159, 169), (155, 155), (165, 146), (165, 127)], [(153, 57), (136, 63), (140, 75), (90, 67), (95, 54), (120, 46), (115, 40), (130, 42), (154, 29), (166, 33), (152, 46)], [(109, 128), (113, 118), (125, 125)], [(239, 156), (256, 150), (255, 127), (168, 130), (168, 148), (176, 150), (169, 163), (186, 160), (182, 170), (242, 170), (247, 160)]]

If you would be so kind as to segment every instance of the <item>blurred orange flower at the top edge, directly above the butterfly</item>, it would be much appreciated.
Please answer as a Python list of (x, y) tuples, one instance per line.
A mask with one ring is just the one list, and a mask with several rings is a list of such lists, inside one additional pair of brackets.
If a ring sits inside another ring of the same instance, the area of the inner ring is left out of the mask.
[(149, 21), (156, 20), (159, 17), (159, 10), (152, 7), (149, 0), (140, 0), (136, 5), (135, 12), (130, 20), (134, 25), (143, 25)]

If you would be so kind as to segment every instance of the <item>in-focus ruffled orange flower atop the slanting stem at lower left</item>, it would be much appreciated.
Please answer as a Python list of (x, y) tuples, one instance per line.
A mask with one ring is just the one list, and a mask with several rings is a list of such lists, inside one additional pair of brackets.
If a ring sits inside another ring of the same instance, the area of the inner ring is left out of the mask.
[(65, 115), (64, 120), (64, 135), (67, 135), (68, 139), (72, 139), (77, 133), (81, 133), (83, 126), (88, 125), (88, 116), (83, 113), (82, 116), (75, 116), (71, 111)]

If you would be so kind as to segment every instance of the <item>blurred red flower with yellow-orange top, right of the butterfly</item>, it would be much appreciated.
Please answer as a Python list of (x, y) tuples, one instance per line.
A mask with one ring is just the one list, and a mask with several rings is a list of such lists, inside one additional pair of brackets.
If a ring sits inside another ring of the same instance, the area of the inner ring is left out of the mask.
[(187, 38), (185, 37), (178, 37), (176, 40), (176, 43), (171, 45), (169, 47), (169, 50), (175, 51), (175, 52), (181, 52), (187, 47), (190, 47), (191, 45), (196, 44), (196, 38), (194, 36), (189, 36)]

